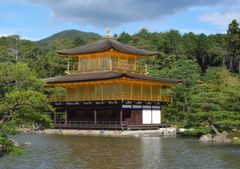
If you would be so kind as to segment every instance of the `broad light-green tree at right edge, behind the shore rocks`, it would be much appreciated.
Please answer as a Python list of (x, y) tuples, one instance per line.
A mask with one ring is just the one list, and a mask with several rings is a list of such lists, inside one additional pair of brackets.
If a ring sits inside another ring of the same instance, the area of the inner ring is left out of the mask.
[(239, 82), (225, 68), (209, 68), (199, 92), (191, 96), (188, 126), (209, 127), (211, 119), (220, 131), (239, 129)]

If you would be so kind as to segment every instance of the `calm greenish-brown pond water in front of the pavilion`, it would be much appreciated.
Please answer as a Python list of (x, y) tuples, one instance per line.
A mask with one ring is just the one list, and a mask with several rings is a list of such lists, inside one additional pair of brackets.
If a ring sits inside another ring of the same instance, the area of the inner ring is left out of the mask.
[(184, 138), (18, 135), (23, 156), (0, 159), (1, 169), (240, 169), (240, 146)]

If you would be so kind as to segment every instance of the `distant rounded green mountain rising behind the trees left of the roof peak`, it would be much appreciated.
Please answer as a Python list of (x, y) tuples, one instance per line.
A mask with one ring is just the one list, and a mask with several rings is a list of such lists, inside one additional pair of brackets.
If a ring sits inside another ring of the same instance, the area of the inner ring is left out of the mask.
[(83, 40), (89, 39), (98, 39), (101, 36), (97, 33), (92, 32), (83, 32), (79, 30), (65, 30), (62, 32), (58, 32), (50, 37), (41, 39), (39, 41), (35, 41), (35, 43), (43, 50), (47, 50), (51, 47), (51, 42), (58, 39), (67, 39), (67, 40), (74, 40), (75, 38), (81, 38)]

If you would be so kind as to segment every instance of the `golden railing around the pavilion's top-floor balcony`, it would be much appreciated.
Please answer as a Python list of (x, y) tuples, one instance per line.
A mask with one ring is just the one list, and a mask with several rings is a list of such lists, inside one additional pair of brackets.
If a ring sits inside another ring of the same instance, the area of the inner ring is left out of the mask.
[(103, 61), (103, 62), (90, 62), (83, 63), (78, 65), (68, 65), (69, 74), (83, 74), (89, 72), (127, 72), (127, 73), (136, 73), (136, 74), (147, 74), (147, 65), (139, 66), (135, 64), (128, 64), (126, 62), (112, 62)]

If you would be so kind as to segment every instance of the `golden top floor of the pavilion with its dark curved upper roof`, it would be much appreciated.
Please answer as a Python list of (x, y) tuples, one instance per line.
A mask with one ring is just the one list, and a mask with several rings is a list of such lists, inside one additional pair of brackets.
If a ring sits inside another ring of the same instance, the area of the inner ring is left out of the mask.
[(58, 53), (68, 59), (67, 74), (121, 72), (140, 75), (148, 74), (141, 60), (156, 54), (123, 44), (111, 36)]

